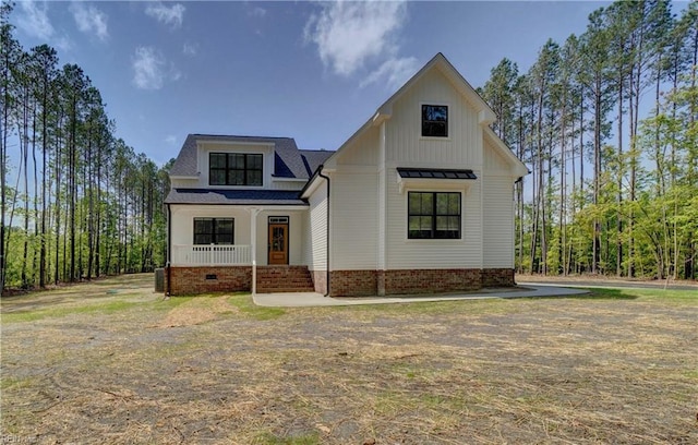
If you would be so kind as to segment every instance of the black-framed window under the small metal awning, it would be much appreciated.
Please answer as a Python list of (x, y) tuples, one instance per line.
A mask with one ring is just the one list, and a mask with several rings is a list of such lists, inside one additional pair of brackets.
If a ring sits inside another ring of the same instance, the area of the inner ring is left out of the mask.
[[(412, 196), (420, 195), (420, 208), (413, 208)], [(431, 203), (424, 197), (431, 195)], [(445, 195), (446, 212), (438, 208), (438, 196)], [(450, 196), (458, 196), (458, 212), (450, 209)], [(431, 208), (430, 208), (431, 207)], [(445, 219), (444, 219), (445, 218)], [(412, 222), (418, 221), (419, 229), (412, 229)], [(446, 229), (443, 225), (446, 222)], [(452, 229), (455, 222), (457, 229)], [(441, 228), (440, 228), (441, 227)], [(408, 192), (407, 194), (407, 238), (410, 240), (459, 240), (462, 239), (462, 193), (460, 192)]]

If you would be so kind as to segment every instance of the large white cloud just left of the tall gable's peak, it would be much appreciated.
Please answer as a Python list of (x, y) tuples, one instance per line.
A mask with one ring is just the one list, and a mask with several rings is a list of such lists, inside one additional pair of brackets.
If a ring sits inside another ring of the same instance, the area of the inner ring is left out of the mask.
[(305, 25), (326, 67), (349, 76), (369, 62), (393, 59), (396, 33), (407, 17), (404, 1), (326, 2)]

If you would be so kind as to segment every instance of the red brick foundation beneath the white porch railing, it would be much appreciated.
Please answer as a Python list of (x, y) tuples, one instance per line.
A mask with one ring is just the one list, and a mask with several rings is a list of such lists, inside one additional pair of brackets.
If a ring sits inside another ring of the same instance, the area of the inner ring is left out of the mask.
[[(170, 294), (250, 291), (252, 266), (170, 267)], [(165, 289), (168, 272), (165, 269)]]

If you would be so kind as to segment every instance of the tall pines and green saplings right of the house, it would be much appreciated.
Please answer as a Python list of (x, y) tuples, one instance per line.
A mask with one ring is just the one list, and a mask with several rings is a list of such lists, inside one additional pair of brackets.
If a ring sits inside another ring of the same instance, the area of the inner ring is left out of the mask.
[(549, 39), (526, 73), (503, 59), (480, 94), (527, 163), (516, 268), (698, 276), (698, 2), (616, 1)]

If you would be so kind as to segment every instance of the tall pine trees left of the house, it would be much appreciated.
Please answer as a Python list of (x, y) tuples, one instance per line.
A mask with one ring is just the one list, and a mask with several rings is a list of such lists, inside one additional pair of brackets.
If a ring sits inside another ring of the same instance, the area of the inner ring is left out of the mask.
[(169, 187), (118, 139), (99, 89), (0, 9), (0, 289), (148, 272), (165, 262)]

